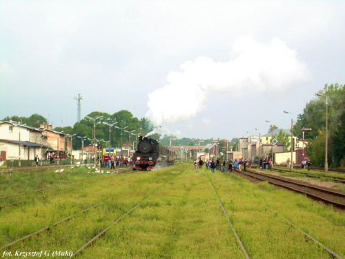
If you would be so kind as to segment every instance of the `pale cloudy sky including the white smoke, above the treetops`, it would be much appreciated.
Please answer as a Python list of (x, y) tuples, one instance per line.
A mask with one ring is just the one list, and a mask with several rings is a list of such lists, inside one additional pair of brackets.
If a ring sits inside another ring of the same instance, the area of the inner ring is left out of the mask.
[(0, 118), (73, 126), (80, 93), (81, 118), (128, 110), (177, 137), (290, 128), (344, 84), (344, 13), (341, 0), (0, 0)]

